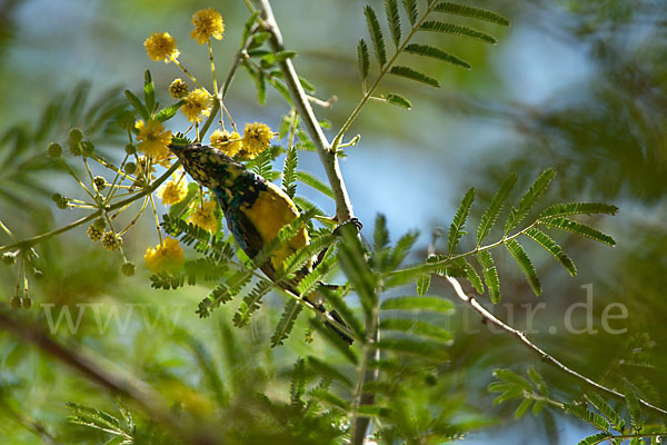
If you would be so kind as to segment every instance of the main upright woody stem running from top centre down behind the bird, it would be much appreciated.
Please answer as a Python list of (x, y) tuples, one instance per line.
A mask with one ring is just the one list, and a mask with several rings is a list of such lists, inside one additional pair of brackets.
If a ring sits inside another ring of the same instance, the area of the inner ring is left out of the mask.
[[(261, 18), (263, 20), (263, 26), (269, 31), (271, 37), (269, 38), (269, 42), (273, 52), (280, 52), (285, 50), (285, 46), (282, 43), (282, 34), (280, 33), (280, 28), (278, 28), (278, 23), (276, 22), (276, 18), (273, 17), (273, 11), (271, 9), (271, 4), (269, 0), (257, 0), (259, 4), (259, 9), (261, 10)], [(320, 127), (315, 112), (312, 111), (312, 107), (310, 107), (310, 102), (301, 83), (299, 81), (299, 77), (295, 70), (295, 67), (291, 62), (291, 59), (286, 59), (280, 62), (280, 69), (282, 75), (285, 76), (285, 82), (287, 83), (287, 88), (290, 92), (291, 100), (297, 109), (297, 112), (301, 117), (301, 121), (308, 131), (310, 139), (315, 142), (317, 148), (317, 152), (319, 155), (320, 161), (325, 167), (325, 171), (327, 172), (327, 178), (329, 179), (329, 185), (331, 186), (331, 190), (334, 191), (334, 198), (336, 201), (336, 216), (338, 218), (338, 222), (342, 224), (354, 217), (352, 205), (350, 202), (350, 198), (348, 197), (347, 189), (345, 187), (345, 181), (342, 179), (342, 175), (340, 174), (340, 167), (338, 165), (338, 157), (335, 150), (331, 150), (331, 145), (327, 140), (322, 128)], [(372, 345), (379, 340), (379, 323), (378, 320), (366, 320), (367, 327), (367, 342)], [(367, 348), (366, 363), (378, 363), (380, 359), (380, 349), (377, 347)], [(371, 382), (377, 382), (379, 377), (379, 368), (377, 366), (371, 366), (364, 373), (364, 384), (362, 387), (366, 387), (367, 384)], [(361, 398), (359, 400), (360, 405), (372, 405), (375, 403), (375, 394), (366, 393), (361, 394)], [(351, 431), (354, 432), (352, 444), (361, 445), (364, 443), (364, 438), (366, 437), (366, 433), (370, 425), (370, 418), (368, 417), (356, 417), (352, 419)]]

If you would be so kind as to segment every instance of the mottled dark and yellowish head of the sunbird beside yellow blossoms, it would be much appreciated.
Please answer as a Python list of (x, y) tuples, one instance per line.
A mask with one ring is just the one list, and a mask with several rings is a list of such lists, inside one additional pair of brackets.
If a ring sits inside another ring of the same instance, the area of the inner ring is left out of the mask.
[(172, 144), (169, 149), (192, 179), (211, 190), (230, 187), (233, 179), (246, 169), (242, 164), (211, 146)]

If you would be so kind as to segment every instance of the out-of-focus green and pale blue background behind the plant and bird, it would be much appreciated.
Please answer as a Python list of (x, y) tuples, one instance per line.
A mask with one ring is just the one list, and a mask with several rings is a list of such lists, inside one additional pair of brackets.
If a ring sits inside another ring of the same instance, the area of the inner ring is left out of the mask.
[[(369, 3), (381, 7), (377, 0)], [(299, 73), (317, 86), (319, 98), (338, 97), (332, 108), (316, 109), (335, 129), (360, 97), (355, 47), (366, 37), (364, 4), (352, 0), (273, 4), (286, 46), (299, 52), (295, 59)], [(470, 61), (472, 70), (425, 66), (425, 71), (440, 80), (439, 90), (388, 79), (381, 90), (400, 91), (412, 101), (412, 110), (370, 103), (348, 135), (361, 135), (341, 168), (355, 211), (367, 225), (365, 233), (370, 233), (378, 212), (387, 216), (396, 238), (419, 229), (419, 251), (412, 258), (417, 260), (417, 255), (425, 256), (431, 230), (450, 222), (468, 187), (480, 191), (481, 204), (474, 214), (479, 217), (485, 201), (511, 171), (526, 187), (544, 168), (555, 167), (558, 177), (548, 201), (617, 205), (620, 214), (596, 221), (596, 226), (610, 233), (618, 246), (558, 239), (578, 266), (574, 279), (546, 254), (529, 249), (545, 288), (539, 299), (508, 258), (497, 255), (504, 299), (494, 313), (517, 328), (535, 330), (531, 338), (574, 369), (610, 386), (629, 380), (648, 400), (666, 406), (667, 380), (661, 377), (667, 365), (665, 2), (480, 0), (475, 6), (511, 20), (508, 29), (488, 27), (498, 44), (445, 39), (441, 47)], [(150, 61), (142, 47), (151, 31), (163, 30), (179, 40), (181, 61), (206, 79), (206, 52), (189, 39), (189, 21), (192, 12), (207, 7), (217, 8), (227, 23), (225, 40), (215, 44), (217, 67), (226, 72), (247, 18), (241, 1), (0, 0), (0, 219), (19, 238), (79, 216), (74, 210), (56, 209), (49, 199), (54, 191), (67, 195), (74, 188), (43, 154), (50, 141), (64, 142), (69, 128), (86, 120), (84, 113), (70, 112), (80, 108), (74, 91), (81, 93), (81, 82), (89, 90), (87, 98), (79, 100), (90, 106), (109, 89), (140, 90), (143, 70), (149, 68), (167, 102), (166, 87), (182, 76), (172, 65)], [(121, 96), (111, 93), (113, 99), (104, 103), (112, 107)], [(40, 119), (49, 103), (61, 108), (44, 132)], [(258, 106), (253, 83), (243, 72), (235, 80), (227, 106), (237, 121), (262, 120), (272, 128), (287, 110), (276, 93), (269, 93), (268, 106)], [(183, 123), (177, 121), (175, 128)], [(111, 157), (118, 156), (125, 144), (103, 127), (93, 140)], [(305, 169), (325, 178), (315, 156), (303, 156), (300, 161)], [(306, 187), (299, 192), (320, 199)], [(320, 199), (318, 204), (334, 211), (331, 202)], [(146, 247), (157, 243), (150, 219), (142, 222), (125, 239), (128, 255), (137, 264), (142, 263)], [(0, 244), (8, 241), (0, 236)], [(248, 380), (237, 388), (252, 390), (279, 379), (296, 356), (335, 356), (319, 340), (303, 344), (306, 323), (292, 333), (287, 346), (269, 350), (267, 338), (270, 323), (279, 314), (278, 297), (272, 301), (277, 314), (263, 310), (250, 327), (233, 333), (225, 309), (203, 320), (195, 315), (206, 288), (153, 290), (141, 268), (135, 278), (126, 278), (119, 274), (120, 259), (90, 244), (83, 228), (40, 245), (38, 250), (44, 274), (31, 288), (34, 308), (21, 312), (21, 317), (48, 326), (44, 304), (79, 304), (71, 306), (72, 317), (74, 308), (90, 304), (76, 334), (63, 318), (57, 336), (94, 352), (112, 364), (109, 366), (155, 385), (167, 397), (178, 394), (181, 402), (187, 398), (189, 409), (209, 409), (210, 395), (200, 394), (207, 377), (196, 344), (212, 352), (227, 378)], [(6, 300), (14, 279), (16, 268), (0, 266), (0, 296)], [(565, 314), (571, 305), (586, 303), (587, 287), (583, 286), (589, 284), (591, 313), (570, 309), (573, 325), (583, 328), (589, 319), (598, 332), (568, 333)], [(451, 290), (437, 283), (432, 293), (447, 296)], [(609, 323), (623, 334), (601, 325), (601, 314), (611, 303), (627, 307), (627, 318)], [(99, 309), (97, 319), (93, 307)], [(107, 319), (112, 307), (127, 326), (111, 322), (100, 329), (99, 322)], [(58, 314), (53, 309), (53, 317)], [(146, 324), (155, 317), (161, 318), (153, 327)], [(565, 398), (576, 396), (580, 387), (515, 340), (482, 325), (466, 307), (458, 307), (449, 327), (455, 343), (447, 365), (448, 390), (476, 411), (476, 416), (491, 421), (466, 438), (467, 443), (494, 437), (498, 443), (569, 444), (593, 432), (555, 412), (515, 422), (512, 404), (492, 406), (486, 386), (496, 367), (522, 372), (534, 365), (554, 385), (555, 394)], [(235, 358), (230, 352), (235, 343), (241, 350), (252, 352), (252, 358)], [(248, 379), (248, 374), (257, 378)], [(276, 396), (285, 397), (278, 389)], [(7, 417), (0, 422), (0, 434), (7, 443), (17, 444), (40, 443), (29, 431), (31, 422), (67, 437), (66, 442), (93, 441), (64, 423), (67, 400), (113, 409), (111, 397), (8, 334), (0, 334), (0, 416)]]

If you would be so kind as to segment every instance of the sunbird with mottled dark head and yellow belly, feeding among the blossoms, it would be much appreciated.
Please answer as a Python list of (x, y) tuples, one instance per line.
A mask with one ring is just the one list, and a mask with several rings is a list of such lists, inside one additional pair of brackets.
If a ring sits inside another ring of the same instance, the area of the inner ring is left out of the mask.
[[(248, 257), (253, 258), (283, 226), (299, 216), (295, 202), (278, 186), (246, 169), (245, 165), (215, 147), (202, 144), (171, 144), (169, 149), (178, 157), (192, 179), (216, 195), (229, 230)], [(360, 228), (358, 220), (354, 222)], [(282, 260), (308, 246), (309, 243), (308, 231), (303, 227), (293, 238), (276, 249), (260, 269), (269, 279), (276, 281), (276, 271)], [(312, 269), (315, 260), (316, 258), (312, 258), (306, 265), (306, 273)], [(293, 283), (281, 281), (280, 286), (298, 295)], [(305, 296), (303, 299), (326, 313), (323, 305), (316, 304), (313, 296)], [(346, 325), (336, 312), (328, 314)], [(329, 323), (327, 325), (346, 342), (352, 343), (347, 334)]]

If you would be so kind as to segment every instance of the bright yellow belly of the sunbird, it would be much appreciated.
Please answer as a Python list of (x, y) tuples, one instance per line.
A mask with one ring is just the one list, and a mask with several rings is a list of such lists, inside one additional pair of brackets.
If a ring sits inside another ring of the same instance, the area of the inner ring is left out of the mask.
[[(269, 190), (261, 192), (250, 207), (241, 207), (241, 211), (252, 221), (263, 243), (273, 239), (283, 226), (299, 216), (299, 210), (289, 196), (271, 182), (268, 186)], [(308, 243), (308, 231), (303, 228), (273, 253), (271, 264), (278, 268), (285, 258)]]

